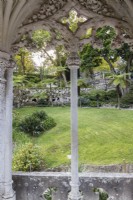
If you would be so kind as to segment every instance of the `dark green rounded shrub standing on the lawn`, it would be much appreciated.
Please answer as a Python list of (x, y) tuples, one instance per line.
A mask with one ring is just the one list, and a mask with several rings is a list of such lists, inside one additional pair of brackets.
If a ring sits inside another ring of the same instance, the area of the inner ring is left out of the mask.
[(31, 136), (39, 136), (41, 133), (53, 128), (56, 123), (44, 111), (34, 112), (19, 123), (19, 129)]

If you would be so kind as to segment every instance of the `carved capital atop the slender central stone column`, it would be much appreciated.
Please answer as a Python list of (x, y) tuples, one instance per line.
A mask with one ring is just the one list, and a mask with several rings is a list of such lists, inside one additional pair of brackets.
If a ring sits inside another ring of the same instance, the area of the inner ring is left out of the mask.
[(68, 59), (67, 65), (69, 69), (78, 69), (80, 66), (80, 58), (77, 52), (71, 52)]

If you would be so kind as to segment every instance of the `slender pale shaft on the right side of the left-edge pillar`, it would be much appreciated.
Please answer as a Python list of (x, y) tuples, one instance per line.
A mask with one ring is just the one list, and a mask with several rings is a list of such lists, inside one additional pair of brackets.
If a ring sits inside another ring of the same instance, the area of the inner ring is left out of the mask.
[(6, 70), (6, 133), (5, 133), (5, 176), (3, 199), (15, 200), (12, 189), (12, 109), (13, 109), (13, 63)]

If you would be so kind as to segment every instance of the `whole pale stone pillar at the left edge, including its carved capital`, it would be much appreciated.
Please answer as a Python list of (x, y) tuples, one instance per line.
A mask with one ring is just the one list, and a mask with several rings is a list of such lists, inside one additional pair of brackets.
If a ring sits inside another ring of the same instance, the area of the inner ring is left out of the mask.
[[(2, 54), (3, 55), (3, 54)], [(6, 58), (5, 58), (6, 57)], [(8, 58), (8, 59), (7, 59)], [(12, 74), (9, 56), (0, 52), (0, 199), (15, 200), (12, 189)]]

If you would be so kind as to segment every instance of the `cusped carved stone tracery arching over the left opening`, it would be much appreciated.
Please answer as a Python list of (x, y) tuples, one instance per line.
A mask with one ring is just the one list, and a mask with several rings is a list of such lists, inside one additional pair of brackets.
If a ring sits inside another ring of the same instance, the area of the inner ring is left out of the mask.
[[(30, 25), (26, 25), (22, 27), (20, 29), (20, 35), (17, 38), (17, 40), (16, 38), (14, 38), (14, 43), (11, 46), (12, 52), (17, 51), (19, 47), (24, 47), (24, 46), (29, 47), (27, 46), (28, 45), (27, 40), (24, 40), (24, 41), (23, 39), (21, 40), (22, 36), (26, 34), (27, 38), (31, 38), (32, 33), (39, 29), (47, 30), (51, 34), (52, 40), (49, 46), (47, 47), (47, 49), (55, 47), (56, 45), (62, 45), (62, 44), (64, 44), (66, 49), (69, 48), (69, 43), (73, 38), (73, 34), (68, 30), (67, 27), (63, 26), (61, 23), (55, 22), (49, 19), (49, 20), (45, 20), (44, 22), (43, 21), (36, 22), (34, 23), (34, 26), (33, 24), (30, 24)], [(58, 31), (62, 35), (62, 39), (60, 40), (56, 39), (57, 37), (56, 33)]]

